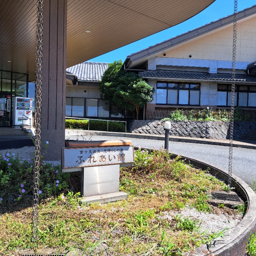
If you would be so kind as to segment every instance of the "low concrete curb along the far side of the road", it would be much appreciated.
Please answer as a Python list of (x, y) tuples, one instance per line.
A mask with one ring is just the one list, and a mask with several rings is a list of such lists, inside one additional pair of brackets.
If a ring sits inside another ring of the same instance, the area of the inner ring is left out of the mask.
[[(113, 136), (113, 137), (136, 138), (136, 139), (145, 139), (145, 140), (164, 140), (164, 135), (124, 133), (124, 132), (99, 132), (99, 131), (66, 129), (66, 132), (65, 132), (66, 140), (72, 139), (72, 136), (108, 136), (108, 137)], [(176, 136), (170, 136), (169, 140), (175, 141), (175, 142), (188, 142), (188, 143), (229, 146), (229, 140), (223, 141), (223, 140), (211, 140), (211, 139), (200, 139), (200, 138), (176, 137)], [(255, 145), (253, 145), (251, 143), (247, 143), (244, 141), (239, 142), (234, 140), (233, 147), (256, 149), (256, 142), (255, 142)]]

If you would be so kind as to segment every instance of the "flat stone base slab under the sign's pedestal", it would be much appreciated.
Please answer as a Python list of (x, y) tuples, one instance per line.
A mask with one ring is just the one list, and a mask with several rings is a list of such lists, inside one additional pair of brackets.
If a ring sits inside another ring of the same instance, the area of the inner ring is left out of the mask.
[(118, 200), (124, 200), (127, 198), (127, 193), (124, 192), (114, 192), (109, 194), (97, 195), (97, 196), (85, 196), (81, 198), (83, 204), (92, 204), (100, 202), (101, 204), (116, 202)]

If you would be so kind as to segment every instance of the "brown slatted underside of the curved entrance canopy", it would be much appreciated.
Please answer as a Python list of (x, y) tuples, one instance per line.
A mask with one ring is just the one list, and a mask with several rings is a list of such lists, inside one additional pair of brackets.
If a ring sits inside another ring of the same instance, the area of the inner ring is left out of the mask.
[[(67, 67), (170, 28), (214, 1), (68, 0)], [(36, 0), (3, 0), (0, 14), (0, 70), (34, 80)]]

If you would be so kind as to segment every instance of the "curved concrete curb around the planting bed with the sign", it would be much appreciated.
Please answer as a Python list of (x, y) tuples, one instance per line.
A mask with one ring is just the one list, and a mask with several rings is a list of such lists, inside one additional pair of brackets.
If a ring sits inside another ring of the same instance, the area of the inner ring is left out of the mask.
[[(136, 148), (136, 147), (135, 147)], [(146, 149), (146, 148), (145, 148)], [(148, 149), (148, 148), (147, 148)], [(148, 149), (150, 150), (150, 149)], [(177, 155), (172, 154), (173, 157)], [(182, 159), (189, 164), (193, 164), (199, 168), (206, 170), (210, 168), (212, 175), (228, 181), (228, 172), (219, 169), (213, 165), (203, 163), (197, 159), (192, 159), (182, 156)], [(207, 245), (203, 245), (196, 250), (196, 254), (184, 254), (190, 256), (207, 256), (207, 255), (218, 255), (218, 256), (245, 256), (246, 255), (246, 241), (250, 236), (250, 232), (256, 230), (256, 194), (253, 192), (243, 180), (236, 175), (232, 175), (231, 187), (234, 187), (248, 203), (247, 211), (243, 219), (233, 228), (230, 228), (225, 233), (224, 238), (219, 238), (216, 243), (208, 248)], [(223, 227), (224, 228), (224, 227)]]

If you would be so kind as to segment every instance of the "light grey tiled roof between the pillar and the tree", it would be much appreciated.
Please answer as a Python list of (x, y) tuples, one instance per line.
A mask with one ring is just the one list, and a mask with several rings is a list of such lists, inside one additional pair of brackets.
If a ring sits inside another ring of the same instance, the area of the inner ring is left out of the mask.
[(85, 61), (67, 68), (67, 72), (76, 75), (78, 81), (99, 82), (109, 63)]

